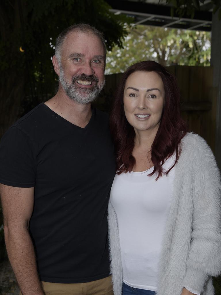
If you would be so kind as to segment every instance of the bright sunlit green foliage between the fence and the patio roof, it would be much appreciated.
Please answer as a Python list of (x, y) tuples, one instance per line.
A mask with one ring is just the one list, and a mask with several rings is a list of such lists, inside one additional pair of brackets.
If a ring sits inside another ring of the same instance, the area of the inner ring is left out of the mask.
[(124, 72), (139, 60), (162, 65), (210, 65), (210, 33), (137, 25), (128, 28), (123, 48), (107, 54), (106, 73)]

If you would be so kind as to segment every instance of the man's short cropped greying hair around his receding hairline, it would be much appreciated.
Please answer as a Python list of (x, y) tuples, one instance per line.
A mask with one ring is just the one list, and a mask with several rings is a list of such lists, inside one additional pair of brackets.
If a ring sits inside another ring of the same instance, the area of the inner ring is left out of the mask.
[(55, 55), (60, 63), (60, 60), (61, 60), (61, 49), (62, 49), (62, 45), (67, 37), (67, 35), (70, 33), (70, 32), (83, 32), (83, 33), (91, 33), (91, 34), (94, 34), (96, 35), (102, 45), (103, 45), (103, 49), (104, 49), (104, 61), (106, 59), (106, 46), (105, 46), (105, 39), (104, 39), (104, 36), (103, 36), (103, 33), (98, 31), (97, 29), (95, 29), (94, 27), (90, 26), (90, 24), (84, 24), (84, 23), (81, 23), (81, 24), (73, 24), (72, 26), (66, 28), (65, 30), (63, 30), (57, 37), (56, 39), (56, 44), (55, 44)]

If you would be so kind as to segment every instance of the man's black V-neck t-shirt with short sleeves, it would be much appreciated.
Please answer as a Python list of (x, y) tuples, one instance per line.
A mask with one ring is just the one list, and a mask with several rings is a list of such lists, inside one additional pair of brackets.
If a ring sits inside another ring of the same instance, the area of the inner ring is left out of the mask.
[(30, 234), (42, 281), (109, 276), (107, 204), (115, 175), (108, 116), (93, 109), (85, 128), (40, 104), (0, 144), (0, 182), (35, 187)]

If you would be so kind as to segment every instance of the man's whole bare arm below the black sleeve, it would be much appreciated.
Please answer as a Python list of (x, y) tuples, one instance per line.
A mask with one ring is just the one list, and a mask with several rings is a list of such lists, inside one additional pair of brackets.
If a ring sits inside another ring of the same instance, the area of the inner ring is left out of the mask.
[(0, 184), (4, 235), (8, 257), (23, 295), (43, 295), (34, 248), (29, 235), (29, 219), (34, 204), (34, 187)]

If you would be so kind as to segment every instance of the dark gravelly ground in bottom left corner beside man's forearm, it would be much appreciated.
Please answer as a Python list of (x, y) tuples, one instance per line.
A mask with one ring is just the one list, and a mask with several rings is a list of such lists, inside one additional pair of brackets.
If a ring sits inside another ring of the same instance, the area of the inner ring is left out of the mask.
[(19, 295), (16, 279), (8, 260), (0, 263), (0, 295)]

